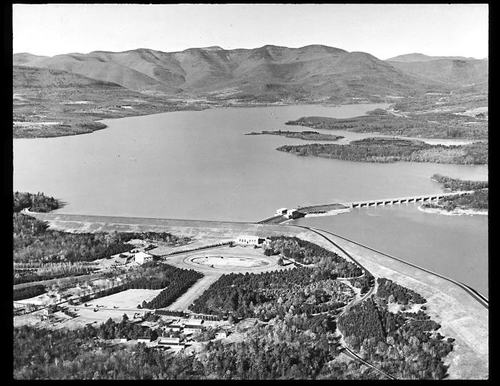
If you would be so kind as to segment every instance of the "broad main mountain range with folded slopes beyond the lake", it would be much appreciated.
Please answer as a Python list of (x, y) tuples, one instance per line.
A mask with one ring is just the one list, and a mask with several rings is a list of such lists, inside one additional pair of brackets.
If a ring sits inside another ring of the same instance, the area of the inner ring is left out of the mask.
[(406, 96), (436, 87), (370, 54), (321, 45), (232, 50), (211, 46), (170, 53), (136, 49), (52, 57), (14, 54), (13, 63), (77, 73), (141, 93), (215, 100), (342, 103), (346, 98), (376, 101), (379, 96)]

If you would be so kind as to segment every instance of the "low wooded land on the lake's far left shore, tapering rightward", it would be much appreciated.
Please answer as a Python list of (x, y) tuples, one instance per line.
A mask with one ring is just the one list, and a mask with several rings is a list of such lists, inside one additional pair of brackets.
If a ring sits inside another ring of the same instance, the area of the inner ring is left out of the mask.
[(13, 66), (13, 137), (34, 138), (90, 133), (106, 127), (103, 118), (181, 110), (114, 83), (76, 73)]

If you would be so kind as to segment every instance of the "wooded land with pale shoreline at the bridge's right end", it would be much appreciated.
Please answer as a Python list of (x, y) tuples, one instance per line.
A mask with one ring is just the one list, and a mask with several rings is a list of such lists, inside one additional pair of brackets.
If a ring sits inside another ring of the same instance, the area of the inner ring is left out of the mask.
[(449, 195), (437, 203), (423, 203), (419, 210), (441, 215), (488, 215), (488, 182), (463, 181), (434, 174), (433, 181), (443, 183), (451, 191), (473, 191), (469, 194)]

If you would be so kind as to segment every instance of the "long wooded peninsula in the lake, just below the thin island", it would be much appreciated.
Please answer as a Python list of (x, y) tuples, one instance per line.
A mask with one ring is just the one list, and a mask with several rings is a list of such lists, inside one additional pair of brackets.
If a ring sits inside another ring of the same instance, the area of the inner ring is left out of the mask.
[(430, 145), (422, 141), (399, 138), (363, 138), (349, 145), (310, 143), (308, 145), (285, 145), (279, 151), (296, 156), (315, 156), (345, 161), (390, 163), (396, 161), (456, 163), (483, 165), (488, 163), (488, 143), (467, 145)]

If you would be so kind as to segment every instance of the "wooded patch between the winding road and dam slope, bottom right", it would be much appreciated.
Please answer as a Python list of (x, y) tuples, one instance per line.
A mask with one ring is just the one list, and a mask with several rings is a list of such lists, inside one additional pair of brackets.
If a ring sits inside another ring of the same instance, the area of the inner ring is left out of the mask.
[[(379, 280), (381, 280), (379, 278)], [(453, 350), (453, 338), (444, 340), (441, 327), (424, 311), (389, 312), (389, 296), (405, 300), (418, 298), (414, 293), (382, 278), (373, 298), (351, 307), (338, 320), (346, 344), (365, 360), (394, 377), (404, 379), (441, 379), (447, 367), (443, 358)]]

